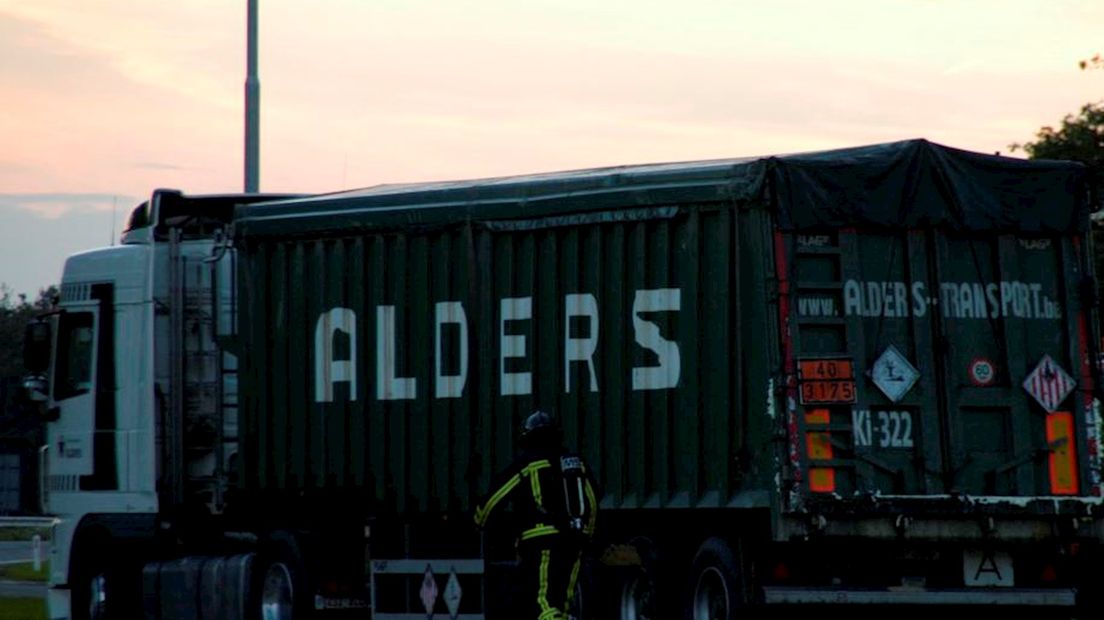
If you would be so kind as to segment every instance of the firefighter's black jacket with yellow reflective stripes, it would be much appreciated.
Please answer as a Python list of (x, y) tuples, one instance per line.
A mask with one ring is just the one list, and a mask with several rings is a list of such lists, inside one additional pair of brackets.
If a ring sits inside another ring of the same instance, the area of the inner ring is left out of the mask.
[(521, 543), (559, 534), (585, 539), (594, 536), (598, 516), (594, 481), (576, 455), (519, 455), (476, 507), (476, 524), (484, 527), (497, 514), (496, 509), (511, 502), (520, 522)]

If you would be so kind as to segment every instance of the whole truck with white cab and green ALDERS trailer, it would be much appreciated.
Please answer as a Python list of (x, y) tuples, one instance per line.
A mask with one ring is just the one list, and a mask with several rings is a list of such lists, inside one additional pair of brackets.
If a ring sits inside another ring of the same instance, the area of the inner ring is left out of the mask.
[(907, 140), (157, 191), (28, 327), (50, 617), (509, 617), (471, 511), (551, 410), (578, 618), (1098, 614), (1083, 167)]

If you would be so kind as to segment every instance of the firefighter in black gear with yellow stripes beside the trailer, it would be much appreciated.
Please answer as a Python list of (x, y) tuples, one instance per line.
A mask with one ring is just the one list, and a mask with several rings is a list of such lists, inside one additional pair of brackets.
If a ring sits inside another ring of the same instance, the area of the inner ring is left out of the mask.
[(526, 418), (518, 455), (477, 506), (476, 524), (486, 526), (506, 503), (513, 504), (520, 526), (521, 618), (566, 620), (598, 505), (590, 469), (564, 448), (559, 425), (545, 411)]

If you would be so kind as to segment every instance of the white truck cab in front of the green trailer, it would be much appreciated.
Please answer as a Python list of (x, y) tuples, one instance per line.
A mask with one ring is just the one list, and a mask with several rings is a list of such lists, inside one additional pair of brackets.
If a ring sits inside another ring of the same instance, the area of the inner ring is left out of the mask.
[(235, 204), (270, 197), (153, 192), (120, 245), (65, 261), (55, 310), (28, 327), (42, 507), (56, 517), (51, 619), (137, 616), (144, 574), (179, 559), (164, 549), (195, 515), (220, 514), (237, 441), (224, 239)]

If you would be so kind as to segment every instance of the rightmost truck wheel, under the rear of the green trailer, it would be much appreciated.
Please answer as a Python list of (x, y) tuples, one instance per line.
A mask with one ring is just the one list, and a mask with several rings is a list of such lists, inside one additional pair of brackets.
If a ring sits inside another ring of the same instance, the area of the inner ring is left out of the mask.
[(709, 538), (691, 565), (688, 620), (735, 620), (746, 602), (735, 555), (721, 538)]

